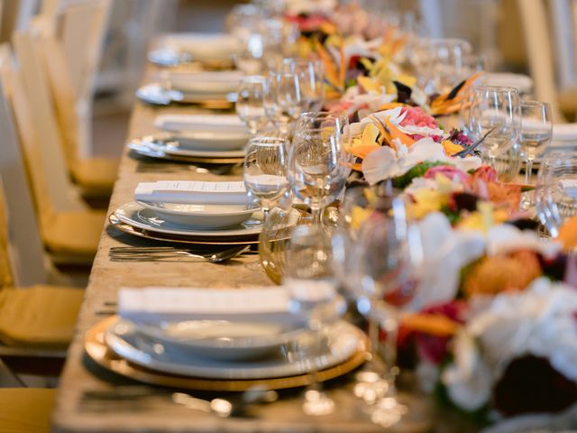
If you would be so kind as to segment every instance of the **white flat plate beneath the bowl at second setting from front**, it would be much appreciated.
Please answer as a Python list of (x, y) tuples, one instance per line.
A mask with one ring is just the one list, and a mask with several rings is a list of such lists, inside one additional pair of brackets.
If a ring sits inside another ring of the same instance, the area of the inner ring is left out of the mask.
[(258, 235), (262, 230), (262, 221), (254, 217), (247, 219), (242, 225), (218, 230), (198, 229), (197, 227), (184, 226), (166, 221), (152, 209), (143, 207), (136, 202), (126, 203), (114, 211), (114, 215), (124, 224), (149, 230), (151, 232), (165, 233), (167, 235), (185, 235), (202, 237), (243, 237)]

